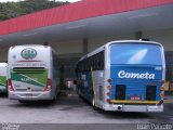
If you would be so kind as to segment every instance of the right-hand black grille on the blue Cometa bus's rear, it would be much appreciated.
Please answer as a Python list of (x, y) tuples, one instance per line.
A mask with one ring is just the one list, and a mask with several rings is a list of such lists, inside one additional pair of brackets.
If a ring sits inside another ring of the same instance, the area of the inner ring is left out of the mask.
[(147, 86), (146, 100), (147, 101), (156, 101), (156, 86)]

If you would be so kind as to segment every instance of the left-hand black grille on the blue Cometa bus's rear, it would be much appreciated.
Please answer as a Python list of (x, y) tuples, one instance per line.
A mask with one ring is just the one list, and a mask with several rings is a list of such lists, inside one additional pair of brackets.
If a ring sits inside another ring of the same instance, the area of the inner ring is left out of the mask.
[(116, 86), (116, 100), (125, 100), (125, 89), (124, 84)]

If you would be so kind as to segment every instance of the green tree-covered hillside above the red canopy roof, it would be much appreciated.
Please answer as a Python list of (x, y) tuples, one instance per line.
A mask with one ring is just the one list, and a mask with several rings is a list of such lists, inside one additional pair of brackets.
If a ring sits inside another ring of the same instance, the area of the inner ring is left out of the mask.
[(19, 2), (0, 3), (0, 21), (13, 18), (16, 16), (29, 14), (36, 11), (51, 9), (68, 4), (69, 2), (50, 1), (50, 0), (25, 0)]

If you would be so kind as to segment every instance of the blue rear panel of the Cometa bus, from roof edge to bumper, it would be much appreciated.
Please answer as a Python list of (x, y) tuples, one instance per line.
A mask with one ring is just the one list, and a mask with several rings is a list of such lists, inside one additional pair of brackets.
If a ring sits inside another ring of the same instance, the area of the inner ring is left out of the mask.
[(160, 44), (121, 42), (108, 47), (105, 110), (163, 112), (164, 56)]

